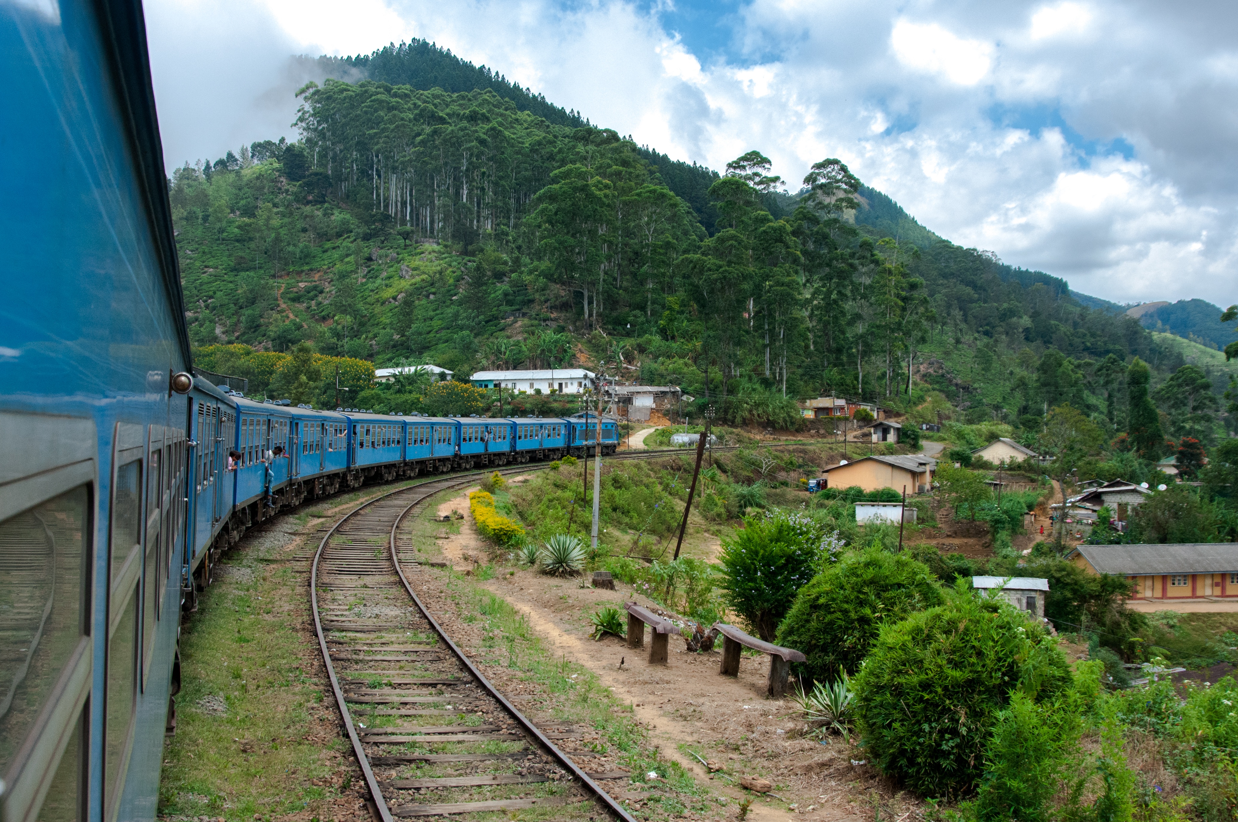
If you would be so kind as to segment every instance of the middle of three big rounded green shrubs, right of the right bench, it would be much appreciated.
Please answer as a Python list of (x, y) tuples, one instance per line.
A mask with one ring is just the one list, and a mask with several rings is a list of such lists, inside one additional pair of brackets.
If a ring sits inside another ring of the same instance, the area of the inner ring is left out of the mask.
[(802, 672), (825, 681), (859, 670), (881, 625), (945, 602), (928, 568), (881, 548), (846, 555), (800, 589), (777, 644), (803, 651)]

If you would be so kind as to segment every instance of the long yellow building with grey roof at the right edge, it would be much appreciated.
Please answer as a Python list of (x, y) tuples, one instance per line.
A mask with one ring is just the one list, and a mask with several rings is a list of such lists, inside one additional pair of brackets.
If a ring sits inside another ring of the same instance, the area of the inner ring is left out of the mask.
[(1134, 610), (1238, 612), (1238, 542), (1080, 545), (1066, 558), (1127, 577)]

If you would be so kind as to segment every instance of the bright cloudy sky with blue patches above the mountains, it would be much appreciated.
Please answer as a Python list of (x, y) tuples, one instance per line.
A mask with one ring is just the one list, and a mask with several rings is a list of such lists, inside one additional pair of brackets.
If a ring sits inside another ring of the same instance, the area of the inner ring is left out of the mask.
[(291, 54), (423, 37), (673, 157), (722, 168), (758, 149), (792, 188), (839, 157), (938, 234), (1078, 291), (1238, 302), (1238, 4), (147, 0), (146, 14), (173, 163), (292, 136), (308, 74)]

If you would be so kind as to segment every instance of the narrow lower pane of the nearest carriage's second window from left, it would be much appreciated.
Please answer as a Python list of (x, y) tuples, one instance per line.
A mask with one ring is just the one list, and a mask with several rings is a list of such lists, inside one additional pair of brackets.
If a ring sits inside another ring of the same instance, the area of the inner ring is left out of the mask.
[(116, 801), (124, 787), (129, 740), (134, 728), (134, 704), (137, 699), (137, 591), (130, 588), (108, 642), (108, 709), (104, 717), (104, 791), (108, 810), (104, 818), (113, 818)]

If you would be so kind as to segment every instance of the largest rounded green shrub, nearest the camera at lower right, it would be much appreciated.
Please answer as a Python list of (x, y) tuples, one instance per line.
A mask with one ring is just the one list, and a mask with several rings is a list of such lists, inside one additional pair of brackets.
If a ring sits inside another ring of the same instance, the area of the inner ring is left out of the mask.
[(854, 680), (873, 761), (931, 796), (974, 789), (1015, 687), (1040, 702), (1071, 681), (1065, 655), (1039, 625), (964, 586), (943, 605), (886, 624)]

